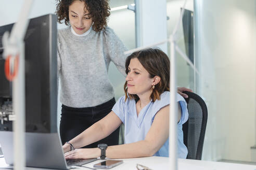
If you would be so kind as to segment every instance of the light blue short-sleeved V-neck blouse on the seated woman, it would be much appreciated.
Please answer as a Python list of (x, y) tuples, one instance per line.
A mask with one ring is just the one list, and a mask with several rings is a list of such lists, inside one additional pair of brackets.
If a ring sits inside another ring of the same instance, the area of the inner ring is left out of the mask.
[[(186, 159), (187, 148), (183, 143), (182, 124), (188, 120), (187, 103), (178, 93), (176, 98), (182, 108), (181, 120), (177, 123), (177, 154), (178, 158)], [(129, 144), (145, 139), (157, 112), (162, 107), (170, 104), (170, 92), (165, 91), (160, 95), (160, 100), (149, 102), (148, 105), (139, 112), (138, 116), (135, 100), (130, 100), (129, 98), (127, 98), (126, 102), (124, 100), (125, 96), (120, 97), (112, 110), (124, 123), (124, 141), (125, 144)], [(154, 155), (159, 157), (169, 156), (169, 138)]]

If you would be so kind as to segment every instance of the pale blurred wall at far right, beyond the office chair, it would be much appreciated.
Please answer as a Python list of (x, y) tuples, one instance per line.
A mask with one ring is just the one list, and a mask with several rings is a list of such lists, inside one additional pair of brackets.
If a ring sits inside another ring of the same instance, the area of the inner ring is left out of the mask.
[(250, 161), (255, 131), (255, 1), (195, 0), (208, 124), (203, 159)]

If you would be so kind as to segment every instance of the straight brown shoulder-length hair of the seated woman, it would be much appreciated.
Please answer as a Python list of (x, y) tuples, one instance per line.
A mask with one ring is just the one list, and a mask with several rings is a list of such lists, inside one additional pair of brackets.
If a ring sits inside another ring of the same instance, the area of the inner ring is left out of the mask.
[[(170, 91), (170, 60), (162, 50), (157, 48), (149, 48), (146, 50), (141, 50), (132, 53), (130, 56), (127, 56), (125, 61), (125, 73), (128, 74), (129, 69), (128, 66), (130, 64), (131, 59), (137, 58), (140, 64), (147, 70), (149, 73), (149, 77), (153, 78), (155, 76), (159, 76), (161, 80), (159, 83), (155, 85), (155, 89), (153, 89), (152, 94), (150, 95), (150, 99), (155, 102), (156, 100), (160, 100), (160, 95), (164, 91)], [(127, 92), (127, 81), (124, 84), (124, 92), (125, 92), (125, 101), (128, 98), (139, 100), (137, 94), (129, 94)]]

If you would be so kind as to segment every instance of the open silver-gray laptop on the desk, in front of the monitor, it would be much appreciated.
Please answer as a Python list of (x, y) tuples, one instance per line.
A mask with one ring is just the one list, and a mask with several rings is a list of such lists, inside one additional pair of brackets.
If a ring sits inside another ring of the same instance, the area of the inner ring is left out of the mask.
[[(0, 131), (0, 144), (6, 164), (14, 164), (13, 132)], [(93, 159), (67, 160), (64, 158), (58, 133), (25, 133), (26, 166), (69, 169), (93, 162)]]

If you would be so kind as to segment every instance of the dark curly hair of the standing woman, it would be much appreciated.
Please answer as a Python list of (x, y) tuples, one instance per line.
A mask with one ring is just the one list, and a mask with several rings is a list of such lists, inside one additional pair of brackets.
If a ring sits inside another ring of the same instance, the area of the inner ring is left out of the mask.
[(65, 20), (65, 24), (69, 25), (69, 6), (74, 1), (81, 1), (86, 4), (88, 10), (88, 17), (92, 18), (93, 30), (96, 32), (101, 31), (107, 26), (107, 19), (110, 16), (110, 8), (108, 0), (56, 0), (57, 8), (56, 15), (58, 16), (58, 22), (62, 23)]

